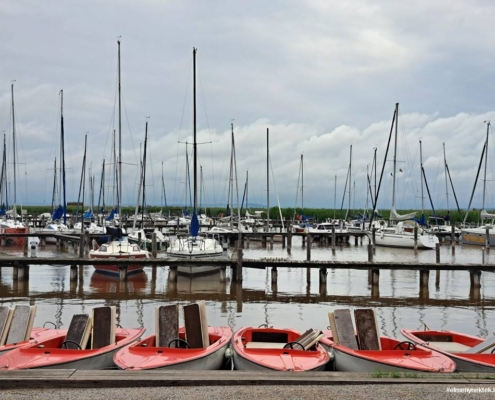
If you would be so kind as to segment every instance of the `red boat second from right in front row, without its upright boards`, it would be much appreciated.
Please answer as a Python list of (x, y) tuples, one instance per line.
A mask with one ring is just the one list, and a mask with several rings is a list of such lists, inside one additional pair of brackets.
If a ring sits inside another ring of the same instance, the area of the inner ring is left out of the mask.
[(381, 350), (359, 350), (336, 344), (332, 331), (323, 331), (320, 340), (334, 353), (334, 369), (350, 372), (454, 372), (456, 365), (436, 351), (410, 342), (380, 336)]

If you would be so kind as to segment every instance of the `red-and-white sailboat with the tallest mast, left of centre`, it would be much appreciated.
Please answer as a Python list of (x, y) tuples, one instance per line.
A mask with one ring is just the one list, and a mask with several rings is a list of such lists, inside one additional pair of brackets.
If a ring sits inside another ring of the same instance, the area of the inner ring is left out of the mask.
[[(121, 210), (121, 199), (122, 199), (122, 119), (121, 119), (121, 86), (120, 86), (120, 40), (117, 41), (118, 44), (118, 85), (119, 85), (119, 171), (118, 171), (118, 200), (117, 200), (117, 210), (120, 213)], [(119, 219), (120, 221), (120, 219)], [(93, 241), (93, 248), (89, 251), (89, 257), (95, 259), (94, 268), (97, 271), (119, 274), (119, 266), (115, 264), (102, 265), (97, 264), (98, 258), (103, 259), (143, 259), (150, 258), (151, 255), (148, 251), (142, 250), (137, 244), (129, 243), (124, 240), (122, 236), (122, 228), (118, 227), (106, 227), (107, 233), (112, 235), (112, 240), (108, 243), (104, 243), (99, 246), (95, 241)], [(127, 267), (128, 273), (140, 272), (144, 268), (143, 265), (129, 265)]]

